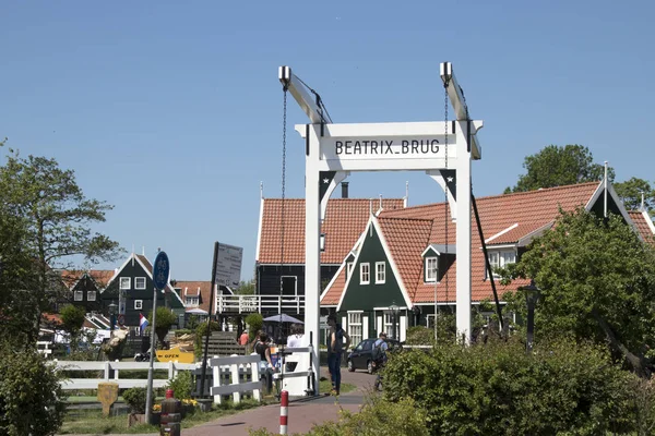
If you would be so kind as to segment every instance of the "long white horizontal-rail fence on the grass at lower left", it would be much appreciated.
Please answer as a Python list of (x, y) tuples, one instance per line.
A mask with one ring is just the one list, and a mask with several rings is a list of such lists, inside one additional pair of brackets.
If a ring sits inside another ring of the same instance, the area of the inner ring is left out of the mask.
[[(146, 378), (120, 378), (120, 371), (144, 371), (147, 373), (150, 362), (76, 362), (76, 361), (52, 361), (57, 364), (57, 368), (61, 371), (102, 371), (103, 378), (69, 378), (60, 382), (61, 388), (70, 389), (97, 389), (99, 383), (115, 382), (118, 383), (120, 389), (142, 387), (147, 385)], [(154, 370), (168, 370), (166, 379), (153, 379), (155, 388), (165, 387), (168, 380), (174, 379), (180, 371), (193, 371), (196, 368), (194, 363), (177, 363), (177, 362), (155, 362)], [(114, 370), (114, 378), (109, 378), (110, 370)]]

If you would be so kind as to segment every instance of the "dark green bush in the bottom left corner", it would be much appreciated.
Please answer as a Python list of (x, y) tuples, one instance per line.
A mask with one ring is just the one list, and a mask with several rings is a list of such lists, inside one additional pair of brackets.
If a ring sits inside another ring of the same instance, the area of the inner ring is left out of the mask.
[(61, 375), (34, 349), (0, 342), (0, 435), (57, 433), (66, 413)]

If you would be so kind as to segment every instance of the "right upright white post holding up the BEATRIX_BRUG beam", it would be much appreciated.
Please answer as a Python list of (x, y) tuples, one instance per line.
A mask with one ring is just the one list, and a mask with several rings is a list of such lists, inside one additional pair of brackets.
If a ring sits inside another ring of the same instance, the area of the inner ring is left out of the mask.
[[(466, 150), (467, 122), (455, 122), (457, 138), (457, 338), (471, 342), (471, 152)], [(472, 132), (473, 133), (473, 132)]]

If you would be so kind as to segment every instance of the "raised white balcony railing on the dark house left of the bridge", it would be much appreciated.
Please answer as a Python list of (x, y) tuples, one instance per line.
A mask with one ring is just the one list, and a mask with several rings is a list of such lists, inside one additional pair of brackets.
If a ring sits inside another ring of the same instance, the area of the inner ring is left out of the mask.
[(305, 295), (216, 295), (218, 313), (277, 312), (300, 314), (305, 311)]

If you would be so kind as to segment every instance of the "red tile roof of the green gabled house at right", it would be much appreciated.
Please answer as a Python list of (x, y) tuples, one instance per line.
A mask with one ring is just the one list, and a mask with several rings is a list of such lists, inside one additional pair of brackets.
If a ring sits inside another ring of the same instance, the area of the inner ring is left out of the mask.
[[(582, 183), (570, 186), (544, 189), (525, 193), (497, 195), (477, 198), (477, 207), (488, 246), (528, 243), (533, 235), (549, 228), (559, 209), (573, 210), (586, 206), (599, 184)], [(455, 302), (456, 261), (441, 281), (424, 283), (421, 254), (430, 243), (455, 244), (456, 223), (450, 219), (445, 204), (408, 207), (401, 210), (384, 210), (379, 222), (386, 239), (393, 261), (400, 271), (405, 289), (414, 303), (434, 301)], [(642, 234), (653, 234), (643, 216), (631, 213)], [(641, 218), (638, 219), (638, 218)], [(485, 277), (485, 257), (475, 218), (472, 217), (472, 301), (492, 299), (491, 283)], [(344, 268), (345, 269), (345, 268)], [(337, 304), (345, 287), (345, 270), (342, 270), (327, 290), (321, 304)], [(501, 286), (497, 291), (500, 299), (507, 291), (527, 284), (526, 280), (515, 280), (510, 286)]]

